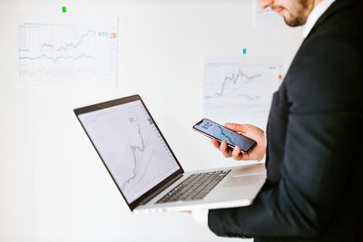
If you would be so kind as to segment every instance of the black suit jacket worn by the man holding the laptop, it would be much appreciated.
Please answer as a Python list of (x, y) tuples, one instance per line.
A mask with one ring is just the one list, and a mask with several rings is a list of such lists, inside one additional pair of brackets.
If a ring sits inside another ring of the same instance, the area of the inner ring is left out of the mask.
[(301, 44), (267, 128), (268, 179), (211, 230), (255, 241), (363, 241), (361, 1), (336, 0)]

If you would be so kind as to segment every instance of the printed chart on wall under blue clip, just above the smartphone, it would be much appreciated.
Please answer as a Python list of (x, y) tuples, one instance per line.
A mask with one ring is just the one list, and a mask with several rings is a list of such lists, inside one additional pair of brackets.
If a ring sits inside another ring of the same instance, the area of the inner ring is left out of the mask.
[(281, 80), (278, 58), (205, 58), (202, 115), (221, 123), (267, 120)]

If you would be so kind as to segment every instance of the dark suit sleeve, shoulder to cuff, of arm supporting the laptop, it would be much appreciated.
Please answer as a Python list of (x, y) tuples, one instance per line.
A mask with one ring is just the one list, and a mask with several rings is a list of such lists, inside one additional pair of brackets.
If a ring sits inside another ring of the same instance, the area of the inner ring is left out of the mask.
[(331, 26), (346, 23), (341, 19), (356, 23), (348, 10), (341, 13), (311, 35), (285, 78), (279, 181), (262, 189), (249, 207), (210, 210), (209, 227), (218, 236), (315, 237), (344, 200), (360, 161), (362, 52), (361, 24)]

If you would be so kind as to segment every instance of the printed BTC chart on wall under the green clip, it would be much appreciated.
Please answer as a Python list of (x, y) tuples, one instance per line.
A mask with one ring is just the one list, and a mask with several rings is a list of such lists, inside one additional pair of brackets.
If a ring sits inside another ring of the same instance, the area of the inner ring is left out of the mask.
[(117, 19), (20, 16), (19, 80), (117, 86)]

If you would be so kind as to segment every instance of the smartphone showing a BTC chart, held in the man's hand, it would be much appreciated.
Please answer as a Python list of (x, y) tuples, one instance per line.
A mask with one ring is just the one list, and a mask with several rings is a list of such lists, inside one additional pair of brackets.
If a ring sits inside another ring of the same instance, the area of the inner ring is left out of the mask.
[(208, 119), (202, 119), (192, 128), (194, 131), (198, 131), (201, 134), (219, 140), (220, 142), (221, 140), (226, 140), (228, 146), (231, 148), (239, 146), (240, 151), (243, 153), (249, 152), (257, 144), (255, 140), (247, 138), (236, 131), (232, 131), (221, 124)]

